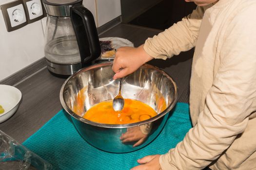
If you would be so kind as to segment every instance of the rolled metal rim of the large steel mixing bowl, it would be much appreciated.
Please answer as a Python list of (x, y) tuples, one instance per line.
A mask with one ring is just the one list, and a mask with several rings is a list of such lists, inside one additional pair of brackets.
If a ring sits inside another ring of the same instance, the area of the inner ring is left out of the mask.
[(65, 85), (69, 82), (70, 79), (72, 79), (73, 77), (75, 77), (76, 75), (78, 75), (80, 72), (84, 72), (86, 70), (90, 70), (92, 68), (98, 68), (98, 67), (101, 67), (101, 66), (108, 66), (108, 65), (112, 65), (113, 64), (113, 61), (107, 61), (107, 62), (102, 62), (102, 63), (99, 63), (99, 64), (94, 64), (92, 66), (89, 66), (89, 67), (86, 67), (86, 68), (81, 68), (79, 69), (76, 73), (74, 73), (73, 75), (71, 75), (64, 83), (63, 85), (61, 86), (61, 89), (60, 89), (60, 93), (59, 93), (59, 98), (60, 98), (60, 103), (62, 105), (62, 107), (64, 108), (64, 110), (70, 115), (72, 116), (73, 118), (79, 120), (80, 122), (83, 122), (83, 123), (87, 123), (87, 124), (90, 124), (90, 125), (93, 125), (93, 126), (97, 126), (97, 127), (103, 127), (103, 128), (128, 128), (128, 127), (134, 127), (134, 126), (139, 126), (139, 125), (143, 125), (143, 124), (147, 124), (147, 123), (150, 123), (150, 122), (153, 122), (157, 119), (160, 119), (161, 117), (165, 116), (168, 112), (171, 111), (171, 109), (175, 106), (176, 102), (177, 102), (177, 96), (178, 96), (178, 88), (177, 88), (177, 85), (176, 83), (174, 82), (174, 80), (171, 78), (171, 76), (169, 76), (166, 72), (164, 72), (163, 70), (161, 70), (160, 68), (156, 67), (156, 66), (152, 66), (152, 65), (149, 65), (149, 64), (143, 64), (142, 66), (143, 67), (147, 67), (147, 68), (154, 68), (156, 69), (157, 71), (161, 72), (162, 74), (164, 74), (169, 80), (171, 80), (171, 82), (173, 83), (174, 85), (174, 89), (175, 89), (175, 93), (174, 93), (174, 98), (173, 98), (173, 101), (171, 102), (171, 104), (164, 110), (162, 111), (161, 113), (159, 113), (157, 116), (153, 117), (153, 118), (150, 118), (150, 119), (147, 119), (147, 120), (143, 120), (143, 121), (139, 121), (139, 122), (136, 122), (136, 123), (128, 123), (128, 124), (105, 124), (105, 123), (98, 123), (98, 122), (95, 122), (95, 121), (90, 121), (88, 119), (84, 119), (82, 117), (80, 117), (79, 115), (77, 115), (76, 113), (74, 113), (66, 104), (66, 102), (64, 101), (64, 98), (63, 98), (63, 90), (64, 90), (64, 87)]

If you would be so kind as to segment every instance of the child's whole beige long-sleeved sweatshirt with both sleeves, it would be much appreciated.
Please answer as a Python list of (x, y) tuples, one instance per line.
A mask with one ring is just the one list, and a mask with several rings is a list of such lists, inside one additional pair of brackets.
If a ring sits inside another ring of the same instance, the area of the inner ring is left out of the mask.
[(256, 170), (256, 0), (219, 0), (149, 38), (166, 59), (196, 46), (193, 128), (159, 158), (163, 170)]

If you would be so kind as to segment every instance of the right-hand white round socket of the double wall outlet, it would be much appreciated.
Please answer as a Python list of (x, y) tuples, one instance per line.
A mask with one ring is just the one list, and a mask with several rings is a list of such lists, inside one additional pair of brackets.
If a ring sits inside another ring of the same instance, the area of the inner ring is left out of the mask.
[(30, 0), (26, 2), (29, 19), (35, 19), (43, 15), (42, 4), (40, 0)]

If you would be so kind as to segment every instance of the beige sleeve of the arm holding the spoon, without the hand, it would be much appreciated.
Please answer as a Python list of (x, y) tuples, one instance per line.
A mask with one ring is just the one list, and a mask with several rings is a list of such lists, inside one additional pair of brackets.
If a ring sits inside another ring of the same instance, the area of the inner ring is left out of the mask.
[(169, 29), (148, 38), (144, 50), (154, 58), (166, 59), (195, 47), (203, 13), (207, 7), (197, 7)]

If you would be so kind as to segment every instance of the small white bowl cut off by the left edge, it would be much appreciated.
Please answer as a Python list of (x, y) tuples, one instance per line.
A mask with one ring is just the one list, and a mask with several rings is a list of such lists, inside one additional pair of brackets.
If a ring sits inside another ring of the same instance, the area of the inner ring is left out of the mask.
[(0, 85), (0, 105), (4, 112), (0, 114), (0, 123), (9, 119), (18, 109), (21, 100), (21, 92), (11, 85)]

